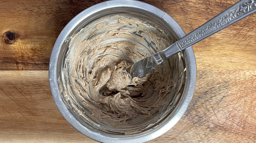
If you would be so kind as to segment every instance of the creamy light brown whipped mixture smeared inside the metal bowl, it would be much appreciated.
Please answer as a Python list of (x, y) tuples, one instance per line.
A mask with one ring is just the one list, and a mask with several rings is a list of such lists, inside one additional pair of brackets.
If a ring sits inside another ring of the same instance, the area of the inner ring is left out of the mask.
[(173, 42), (137, 18), (109, 16), (85, 26), (71, 38), (65, 56), (60, 88), (66, 104), (104, 132), (129, 135), (152, 128), (179, 99), (180, 55), (140, 79), (125, 69)]

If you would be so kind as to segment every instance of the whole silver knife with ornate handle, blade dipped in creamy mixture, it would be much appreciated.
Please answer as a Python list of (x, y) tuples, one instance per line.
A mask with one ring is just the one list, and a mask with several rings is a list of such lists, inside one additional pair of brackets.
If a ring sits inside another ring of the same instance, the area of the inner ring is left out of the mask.
[(183, 51), (193, 44), (211, 36), (212, 34), (245, 18), (246, 16), (249, 16), (254, 12), (256, 12), (256, 2), (254, 0), (240, 0), (163, 51), (159, 51), (134, 63), (132, 66), (127, 68), (126, 71), (130, 73), (132, 77), (138, 76), (141, 78), (169, 57)]

